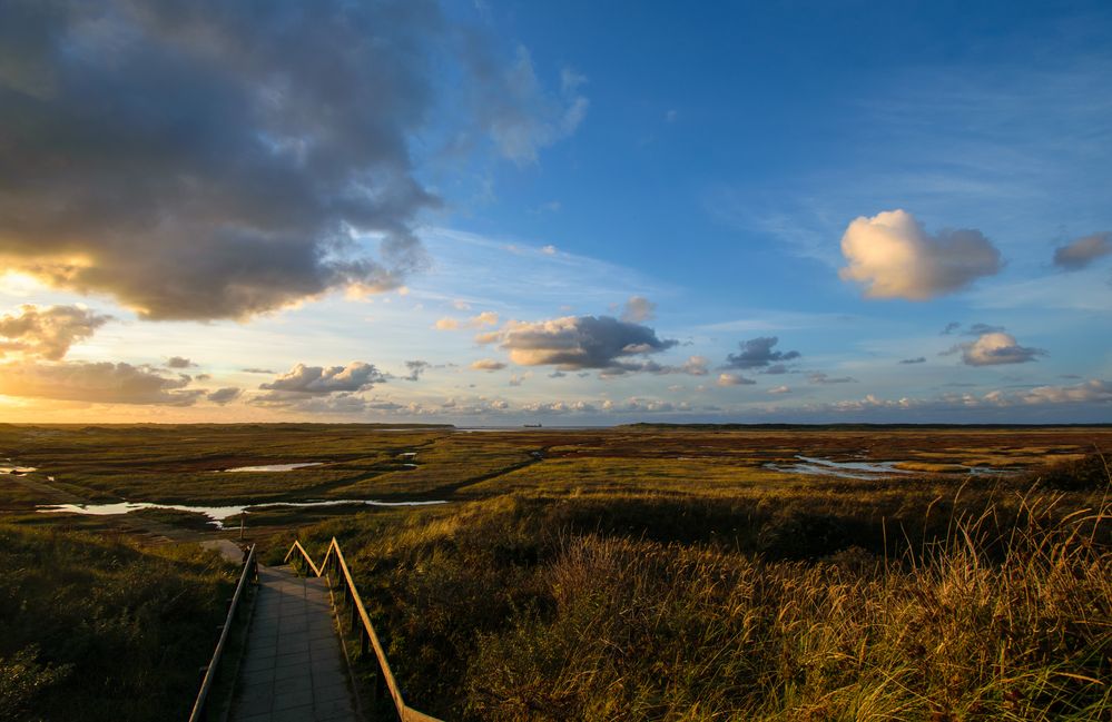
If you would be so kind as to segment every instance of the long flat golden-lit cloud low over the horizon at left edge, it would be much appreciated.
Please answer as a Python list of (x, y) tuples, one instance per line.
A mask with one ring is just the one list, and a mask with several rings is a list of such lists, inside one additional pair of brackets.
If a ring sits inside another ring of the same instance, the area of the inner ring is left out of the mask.
[(204, 396), (185, 375), (110, 362), (23, 362), (0, 366), (0, 394), (92, 404), (191, 406)]

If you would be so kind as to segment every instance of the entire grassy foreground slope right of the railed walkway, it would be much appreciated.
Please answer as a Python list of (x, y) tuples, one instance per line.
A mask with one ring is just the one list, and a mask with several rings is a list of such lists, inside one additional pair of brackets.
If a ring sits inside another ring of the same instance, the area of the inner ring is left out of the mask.
[(901, 484), (890, 506), (882, 482), (513, 494), (303, 538), (341, 540), (409, 699), (445, 719), (1106, 716), (1108, 476)]

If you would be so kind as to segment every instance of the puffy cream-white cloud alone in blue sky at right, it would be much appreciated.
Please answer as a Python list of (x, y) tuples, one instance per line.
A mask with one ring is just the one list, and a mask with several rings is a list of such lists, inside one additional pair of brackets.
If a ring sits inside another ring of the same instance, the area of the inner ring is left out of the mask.
[(961, 290), (1002, 267), (1000, 251), (980, 230), (929, 235), (909, 212), (859, 217), (842, 237), (848, 266), (843, 280), (865, 285), (869, 298), (926, 300)]

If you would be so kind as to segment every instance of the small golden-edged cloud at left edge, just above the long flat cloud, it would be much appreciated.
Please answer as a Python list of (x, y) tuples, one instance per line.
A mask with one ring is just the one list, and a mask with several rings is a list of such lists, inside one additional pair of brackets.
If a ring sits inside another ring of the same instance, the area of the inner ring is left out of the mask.
[(0, 316), (0, 356), (19, 352), (23, 356), (58, 360), (70, 346), (89, 338), (109, 320), (111, 316), (79, 306), (39, 308), (24, 304), (19, 307), (19, 315)]

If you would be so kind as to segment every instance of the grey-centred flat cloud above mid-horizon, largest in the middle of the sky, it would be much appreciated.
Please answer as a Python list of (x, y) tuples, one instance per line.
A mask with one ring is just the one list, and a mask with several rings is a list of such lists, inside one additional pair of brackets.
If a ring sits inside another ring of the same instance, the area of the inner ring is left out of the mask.
[(522, 366), (552, 365), (562, 370), (585, 368), (622, 373), (655, 370), (632, 357), (655, 354), (679, 342), (660, 339), (648, 326), (611, 316), (565, 316), (537, 323), (510, 322), (501, 332), (501, 348)]

